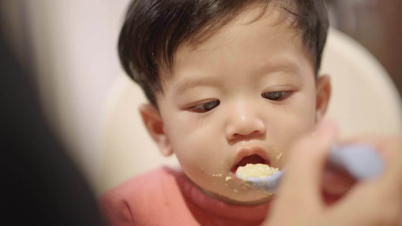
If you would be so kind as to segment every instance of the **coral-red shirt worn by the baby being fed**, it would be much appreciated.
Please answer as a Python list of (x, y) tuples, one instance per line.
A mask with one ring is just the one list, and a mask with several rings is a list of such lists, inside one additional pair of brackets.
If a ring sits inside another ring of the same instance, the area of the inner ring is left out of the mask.
[(100, 207), (112, 226), (256, 226), (269, 204), (231, 205), (209, 197), (168, 167), (134, 177), (105, 193)]

